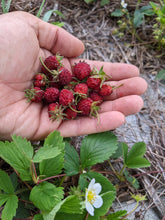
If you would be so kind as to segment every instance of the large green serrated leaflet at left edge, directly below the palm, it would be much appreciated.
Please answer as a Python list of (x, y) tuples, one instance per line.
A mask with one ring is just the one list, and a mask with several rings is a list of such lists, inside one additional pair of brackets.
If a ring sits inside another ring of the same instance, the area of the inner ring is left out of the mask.
[(12, 142), (0, 142), (0, 157), (20, 173), (23, 181), (30, 181), (30, 164), (33, 156), (31, 143), (13, 135)]

